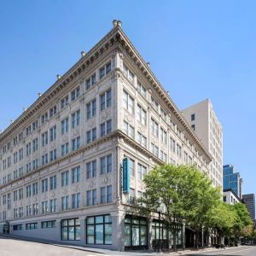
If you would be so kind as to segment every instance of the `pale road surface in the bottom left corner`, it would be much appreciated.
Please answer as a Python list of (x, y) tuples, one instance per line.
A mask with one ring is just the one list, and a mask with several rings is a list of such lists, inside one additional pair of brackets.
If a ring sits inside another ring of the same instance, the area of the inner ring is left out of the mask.
[(95, 256), (100, 253), (80, 251), (32, 241), (0, 237), (0, 256)]

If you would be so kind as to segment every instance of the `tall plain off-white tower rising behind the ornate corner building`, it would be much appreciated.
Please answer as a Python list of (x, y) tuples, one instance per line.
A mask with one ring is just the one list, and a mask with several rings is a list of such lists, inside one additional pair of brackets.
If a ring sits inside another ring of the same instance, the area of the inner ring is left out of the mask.
[(212, 154), (209, 177), (214, 186), (223, 187), (223, 133), (222, 125), (213, 110), (212, 102), (207, 99), (183, 109), (183, 115), (195, 134)]

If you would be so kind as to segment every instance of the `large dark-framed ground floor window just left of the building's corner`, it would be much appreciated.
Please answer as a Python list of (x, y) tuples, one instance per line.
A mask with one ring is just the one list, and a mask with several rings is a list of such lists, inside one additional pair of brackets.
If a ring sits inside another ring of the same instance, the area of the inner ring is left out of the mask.
[(112, 218), (108, 215), (86, 219), (87, 244), (112, 244)]

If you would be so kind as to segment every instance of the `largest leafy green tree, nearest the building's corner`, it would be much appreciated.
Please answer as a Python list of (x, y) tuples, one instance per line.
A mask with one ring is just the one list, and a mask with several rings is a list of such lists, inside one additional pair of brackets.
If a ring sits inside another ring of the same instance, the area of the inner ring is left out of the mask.
[(207, 176), (195, 166), (155, 166), (143, 182), (142, 202), (148, 212), (158, 212), (158, 208), (163, 207), (175, 250), (177, 230), (183, 221), (200, 230), (220, 198), (218, 189), (214, 189)]

